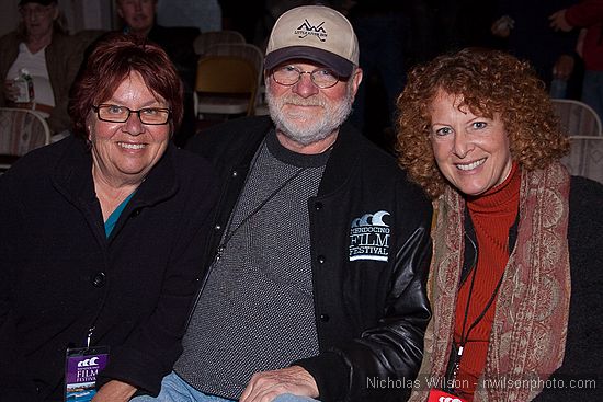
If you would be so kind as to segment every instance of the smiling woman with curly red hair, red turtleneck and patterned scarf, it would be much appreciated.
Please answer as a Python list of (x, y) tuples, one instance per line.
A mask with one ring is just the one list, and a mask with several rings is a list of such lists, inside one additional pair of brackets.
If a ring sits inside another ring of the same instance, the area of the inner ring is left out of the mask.
[(464, 49), (398, 100), (400, 163), (437, 208), (419, 379), (440, 387), (413, 402), (603, 401), (603, 186), (559, 162), (544, 88), (513, 56)]

